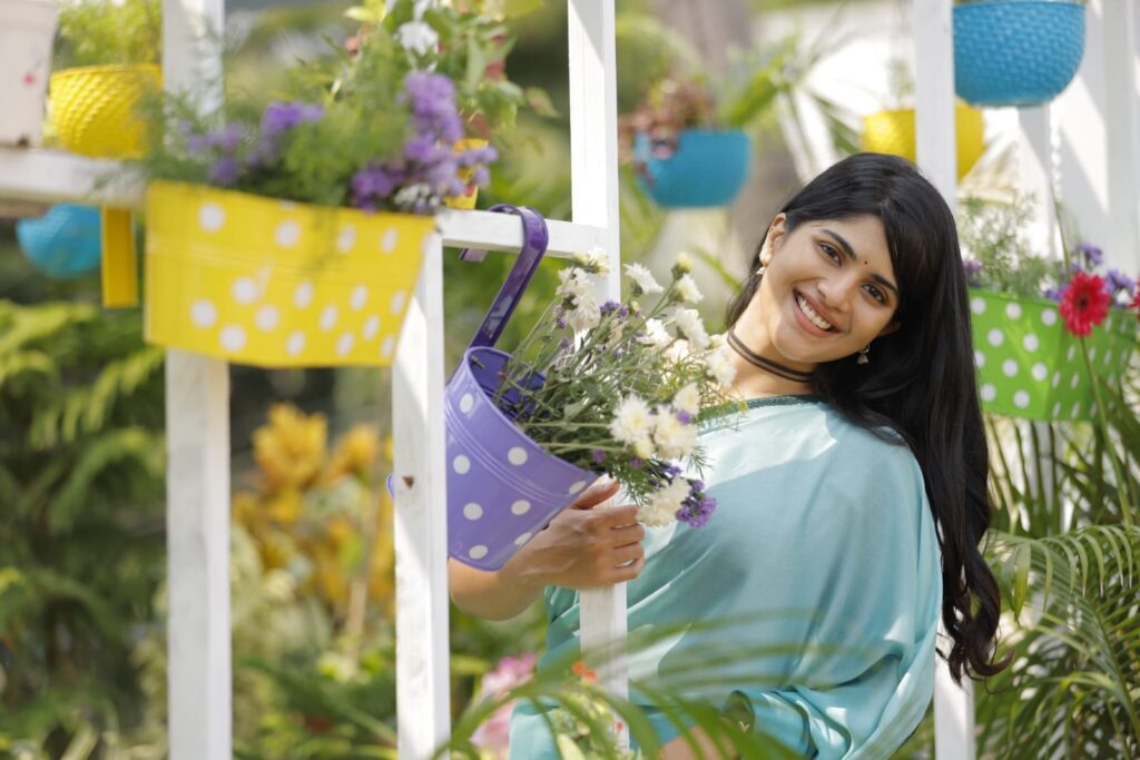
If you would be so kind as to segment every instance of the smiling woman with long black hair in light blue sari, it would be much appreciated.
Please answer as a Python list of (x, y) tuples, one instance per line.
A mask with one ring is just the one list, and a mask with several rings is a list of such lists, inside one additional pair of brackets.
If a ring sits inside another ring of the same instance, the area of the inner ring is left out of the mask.
[[(856, 155), (776, 214), (752, 269), (727, 313), (749, 410), (701, 433), (709, 524), (644, 531), (632, 506), (591, 509), (613, 493), (596, 487), (500, 571), (453, 563), (453, 598), (507, 618), (546, 589), (547, 656), (577, 646), (575, 589), (630, 581), (632, 632), (748, 620), (682, 632), (632, 671), (769, 645), (738, 663), (752, 677), (730, 670), (700, 696), (744, 695), (756, 729), (805, 757), (887, 758), (930, 701), (939, 616), (955, 680), (1004, 667), (954, 219), (911, 164)], [(662, 757), (693, 757), (656, 722)], [(539, 757), (556, 757), (545, 722), (516, 709), (512, 758)]]

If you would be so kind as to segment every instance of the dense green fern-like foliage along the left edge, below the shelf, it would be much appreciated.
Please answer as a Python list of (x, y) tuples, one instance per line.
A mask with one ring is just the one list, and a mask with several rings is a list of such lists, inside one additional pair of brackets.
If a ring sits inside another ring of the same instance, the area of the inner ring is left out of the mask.
[(0, 747), (87, 757), (138, 712), (128, 655), (164, 567), (161, 368), (137, 312), (0, 301)]

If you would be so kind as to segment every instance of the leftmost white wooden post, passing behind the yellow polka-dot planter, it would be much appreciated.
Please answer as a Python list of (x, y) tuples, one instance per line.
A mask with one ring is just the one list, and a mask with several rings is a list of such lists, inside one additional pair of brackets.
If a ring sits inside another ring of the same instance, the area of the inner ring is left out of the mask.
[[(163, 2), (163, 79), (221, 103), (222, 0)], [(166, 352), (166, 623), (171, 760), (231, 755), (229, 368)]]

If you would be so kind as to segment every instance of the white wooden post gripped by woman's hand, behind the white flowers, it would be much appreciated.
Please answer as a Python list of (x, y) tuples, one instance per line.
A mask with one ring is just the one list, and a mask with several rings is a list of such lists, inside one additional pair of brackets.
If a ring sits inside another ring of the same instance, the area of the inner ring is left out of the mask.
[[(602, 228), (610, 258), (604, 297), (618, 300), (618, 99), (612, 0), (570, 0), (570, 161), (573, 221)], [(626, 639), (626, 585), (583, 591), (584, 652), (604, 652), (598, 683), (628, 695), (625, 656), (610, 647)]]

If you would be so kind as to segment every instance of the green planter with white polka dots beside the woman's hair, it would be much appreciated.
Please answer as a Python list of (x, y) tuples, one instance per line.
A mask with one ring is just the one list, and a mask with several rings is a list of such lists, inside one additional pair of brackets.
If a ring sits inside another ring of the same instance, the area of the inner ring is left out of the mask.
[[(970, 291), (974, 361), (982, 408), (1036, 420), (1088, 420), (1093, 392), (1078, 340), (1044, 299)], [(1118, 383), (1137, 341), (1137, 318), (1113, 309), (1085, 338), (1093, 369)]]

